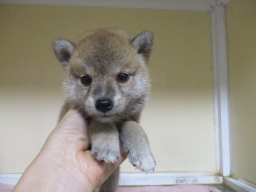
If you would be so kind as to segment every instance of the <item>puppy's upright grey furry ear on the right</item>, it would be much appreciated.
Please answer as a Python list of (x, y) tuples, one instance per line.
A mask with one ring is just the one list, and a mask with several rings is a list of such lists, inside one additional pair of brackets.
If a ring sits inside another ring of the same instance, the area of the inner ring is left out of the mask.
[(153, 33), (151, 31), (139, 33), (138, 36), (132, 39), (132, 46), (137, 50), (137, 53), (142, 54), (146, 60), (149, 60), (153, 46)]

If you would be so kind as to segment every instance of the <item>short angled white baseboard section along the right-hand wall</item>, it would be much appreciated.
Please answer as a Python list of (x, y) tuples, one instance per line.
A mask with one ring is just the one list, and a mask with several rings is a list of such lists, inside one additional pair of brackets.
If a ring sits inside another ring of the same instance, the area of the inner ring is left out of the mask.
[(256, 186), (238, 177), (227, 177), (224, 179), (226, 186), (238, 192), (256, 192)]

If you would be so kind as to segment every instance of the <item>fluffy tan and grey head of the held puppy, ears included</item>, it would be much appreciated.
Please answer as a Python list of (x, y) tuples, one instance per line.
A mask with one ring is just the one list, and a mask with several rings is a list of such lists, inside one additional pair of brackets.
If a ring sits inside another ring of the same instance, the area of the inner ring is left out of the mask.
[(98, 29), (78, 41), (53, 42), (65, 69), (68, 103), (100, 122), (113, 122), (141, 112), (149, 92), (147, 61), (153, 34), (129, 38), (124, 31)]

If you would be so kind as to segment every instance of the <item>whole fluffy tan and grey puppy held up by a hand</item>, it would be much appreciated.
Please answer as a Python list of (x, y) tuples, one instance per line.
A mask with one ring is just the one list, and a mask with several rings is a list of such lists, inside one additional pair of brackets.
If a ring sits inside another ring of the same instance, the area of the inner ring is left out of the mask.
[[(70, 108), (85, 117), (92, 156), (98, 161), (114, 163), (124, 150), (137, 169), (154, 171), (154, 156), (139, 125), (150, 89), (152, 39), (149, 31), (130, 38), (125, 31), (104, 28), (88, 31), (77, 43), (62, 38), (53, 42), (65, 71), (66, 101), (60, 118)], [(114, 191), (118, 176), (117, 170), (100, 192)]]

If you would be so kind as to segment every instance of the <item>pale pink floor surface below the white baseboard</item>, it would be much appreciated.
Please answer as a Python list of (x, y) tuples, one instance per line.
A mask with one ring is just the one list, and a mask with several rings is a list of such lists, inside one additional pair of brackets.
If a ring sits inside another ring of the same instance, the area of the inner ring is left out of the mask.
[[(7, 186), (0, 183), (1, 192), (11, 192), (14, 186)], [(139, 186), (139, 187), (119, 187), (117, 192), (235, 192), (226, 186)]]

